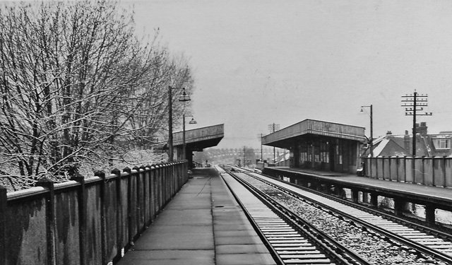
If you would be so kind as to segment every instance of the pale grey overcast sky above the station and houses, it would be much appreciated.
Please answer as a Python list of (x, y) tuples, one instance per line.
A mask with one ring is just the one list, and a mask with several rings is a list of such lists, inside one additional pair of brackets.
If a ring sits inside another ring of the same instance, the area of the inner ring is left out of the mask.
[[(146, 0), (139, 34), (190, 59), (195, 126), (225, 124), (219, 148), (260, 147), (268, 124), (319, 119), (374, 136), (411, 131), (401, 95), (429, 95), (429, 133), (452, 131), (452, 1)], [(369, 108), (366, 109), (369, 112)]]

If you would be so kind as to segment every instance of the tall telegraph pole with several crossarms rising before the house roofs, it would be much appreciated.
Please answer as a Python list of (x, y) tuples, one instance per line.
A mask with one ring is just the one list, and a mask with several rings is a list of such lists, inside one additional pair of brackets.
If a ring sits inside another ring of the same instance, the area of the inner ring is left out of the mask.
[[(432, 116), (432, 112), (417, 113), (427, 107), (428, 95), (419, 95), (416, 90), (412, 95), (402, 96), (402, 107), (405, 107), (405, 116), (412, 116), (412, 156), (416, 156), (416, 116)], [(414, 164), (414, 163), (413, 163)]]

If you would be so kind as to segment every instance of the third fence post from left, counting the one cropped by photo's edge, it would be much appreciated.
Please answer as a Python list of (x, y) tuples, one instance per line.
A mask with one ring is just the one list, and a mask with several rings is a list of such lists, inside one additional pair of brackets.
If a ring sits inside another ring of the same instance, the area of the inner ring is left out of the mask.
[(75, 180), (80, 184), (80, 188), (78, 189), (78, 236), (80, 238), (80, 264), (85, 265), (86, 258), (85, 258), (85, 246), (88, 245), (86, 242), (86, 216), (87, 216), (87, 209), (86, 209), (86, 188), (85, 188), (85, 177), (83, 177), (80, 174), (73, 175), (71, 177), (71, 180)]

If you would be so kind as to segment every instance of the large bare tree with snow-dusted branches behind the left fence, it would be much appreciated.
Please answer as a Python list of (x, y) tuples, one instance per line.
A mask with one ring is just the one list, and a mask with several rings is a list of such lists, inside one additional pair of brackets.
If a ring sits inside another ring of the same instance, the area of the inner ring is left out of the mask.
[[(114, 1), (0, 9), (0, 167), (25, 186), (145, 146), (167, 120), (167, 86), (188, 63), (138, 40)], [(176, 111), (180, 107), (176, 105)], [(180, 110), (179, 110), (180, 111)]]

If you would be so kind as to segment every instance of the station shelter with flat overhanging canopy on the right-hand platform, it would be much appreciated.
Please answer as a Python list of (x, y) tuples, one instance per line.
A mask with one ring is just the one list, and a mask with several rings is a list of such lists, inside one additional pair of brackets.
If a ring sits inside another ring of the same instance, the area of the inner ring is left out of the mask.
[(290, 167), (355, 174), (360, 166), (364, 127), (304, 119), (273, 134), (262, 144), (290, 151)]

